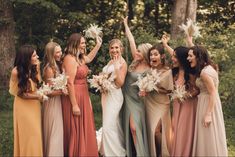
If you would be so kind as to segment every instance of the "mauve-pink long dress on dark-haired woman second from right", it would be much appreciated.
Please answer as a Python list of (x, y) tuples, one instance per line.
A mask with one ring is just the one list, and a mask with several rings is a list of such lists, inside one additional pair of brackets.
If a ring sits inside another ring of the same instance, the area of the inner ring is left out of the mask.
[[(176, 85), (182, 85), (175, 81)], [(174, 100), (172, 115), (172, 152), (171, 156), (192, 156), (197, 97), (180, 102)]]

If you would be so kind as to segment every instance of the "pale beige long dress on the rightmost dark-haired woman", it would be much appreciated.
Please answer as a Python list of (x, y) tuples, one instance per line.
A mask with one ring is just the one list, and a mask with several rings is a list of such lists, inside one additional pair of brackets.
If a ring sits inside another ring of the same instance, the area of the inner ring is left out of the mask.
[(206, 66), (201, 73), (207, 74), (212, 78), (217, 90), (215, 104), (212, 112), (212, 123), (209, 128), (202, 124), (203, 118), (209, 101), (209, 93), (201, 78), (196, 81), (200, 88), (196, 112), (195, 133), (193, 143), (193, 156), (228, 156), (224, 118), (220, 97), (218, 94), (219, 79), (218, 73), (212, 66)]

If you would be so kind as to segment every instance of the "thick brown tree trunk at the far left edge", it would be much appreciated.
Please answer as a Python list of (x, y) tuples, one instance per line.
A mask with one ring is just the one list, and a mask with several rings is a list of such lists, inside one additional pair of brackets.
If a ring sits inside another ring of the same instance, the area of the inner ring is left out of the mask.
[(9, 0), (0, 0), (0, 87), (8, 85), (15, 55), (13, 6)]

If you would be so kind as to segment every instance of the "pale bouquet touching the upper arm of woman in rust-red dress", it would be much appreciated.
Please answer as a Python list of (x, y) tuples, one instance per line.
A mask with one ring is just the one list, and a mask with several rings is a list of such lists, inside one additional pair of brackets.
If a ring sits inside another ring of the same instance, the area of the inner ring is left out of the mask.
[(50, 80), (52, 81), (52, 89), (61, 89), (62, 91), (67, 91), (67, 78), (68, 76), (66, 76), (64, 72), (59, 74), (56, 78), (51, 78)]

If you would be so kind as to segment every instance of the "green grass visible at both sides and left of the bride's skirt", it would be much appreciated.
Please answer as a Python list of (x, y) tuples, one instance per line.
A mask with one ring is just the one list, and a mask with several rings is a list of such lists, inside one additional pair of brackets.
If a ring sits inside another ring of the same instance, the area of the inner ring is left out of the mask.
[[(92, 95), (93, 111), (97, 130), (101, 127), (101, 105), (99, 96)], [(226, 136), (229, 156), (235, 156), (235, 104), (224, 106)], [(13, 156), (13, 116), (12, 110), (0, 111), (0, 156)]]

